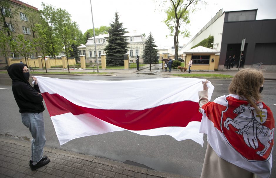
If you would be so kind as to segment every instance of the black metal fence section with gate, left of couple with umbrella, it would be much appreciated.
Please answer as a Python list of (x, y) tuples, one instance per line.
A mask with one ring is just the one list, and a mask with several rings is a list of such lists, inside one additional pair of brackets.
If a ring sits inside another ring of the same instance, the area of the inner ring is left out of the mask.
[(163, 57), (159, 56), (136, 56), (129, 57), (129, 69), (131, 70), (161, 70), (163, 68)]

